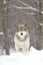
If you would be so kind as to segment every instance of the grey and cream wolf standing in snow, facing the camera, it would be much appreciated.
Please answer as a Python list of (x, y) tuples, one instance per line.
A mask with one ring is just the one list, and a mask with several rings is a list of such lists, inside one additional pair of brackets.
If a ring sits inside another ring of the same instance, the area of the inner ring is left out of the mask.
[(16, 25), (16, 32), (14, 35), (15, 50), (25, 53), (30, 47), (30, 36), (27, 29), (27, 24)]

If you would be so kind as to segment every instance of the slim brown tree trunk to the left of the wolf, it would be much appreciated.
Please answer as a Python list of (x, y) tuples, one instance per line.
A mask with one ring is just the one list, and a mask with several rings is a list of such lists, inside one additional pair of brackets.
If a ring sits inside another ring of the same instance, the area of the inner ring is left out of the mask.
[(5, 1), (3, 0), (3, 30), (4, 30), (4, 35), (5, 35), (5, 50), (6, 50), (6, 55), (9, 55), (9, 43), (8, 43), (8, 0)]

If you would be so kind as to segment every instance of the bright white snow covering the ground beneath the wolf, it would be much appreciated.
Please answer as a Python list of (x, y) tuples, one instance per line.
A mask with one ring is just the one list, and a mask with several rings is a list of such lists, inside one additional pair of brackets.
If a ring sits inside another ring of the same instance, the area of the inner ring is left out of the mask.
[(9, 56), (1, 55), (0, 65), (43, 65), (43, 50), (38, 51), (31, 47), (25, 54), (12, 52)]

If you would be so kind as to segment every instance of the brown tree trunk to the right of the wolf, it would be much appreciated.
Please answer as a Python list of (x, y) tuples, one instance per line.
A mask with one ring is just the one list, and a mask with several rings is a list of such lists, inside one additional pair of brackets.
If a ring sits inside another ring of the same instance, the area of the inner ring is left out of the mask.
[(42, 34), (42, 3), (41, 0), (38, 0), (39, 3), (37, 3), (36, 8), (38, 8), (39, 12), (36, 12), (35, 15), (35, 34), (36, 34), (36, 44), (37, 49), (41, 49), (41, 34)]

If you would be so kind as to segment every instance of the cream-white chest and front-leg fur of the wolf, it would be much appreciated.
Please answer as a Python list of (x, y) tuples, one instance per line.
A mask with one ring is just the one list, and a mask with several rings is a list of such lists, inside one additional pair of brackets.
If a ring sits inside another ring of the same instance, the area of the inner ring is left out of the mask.
[(17, 37), (14, 37), (15, 42), (15, 49), (16, 51), (19, 51), (20, 48), (22, 48), (22, 52), (28, 51), (30, 47), (29, 37), (27, 37), (25, 40), (21, 41), (18, 40)]

